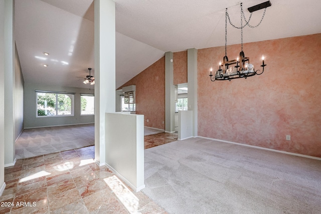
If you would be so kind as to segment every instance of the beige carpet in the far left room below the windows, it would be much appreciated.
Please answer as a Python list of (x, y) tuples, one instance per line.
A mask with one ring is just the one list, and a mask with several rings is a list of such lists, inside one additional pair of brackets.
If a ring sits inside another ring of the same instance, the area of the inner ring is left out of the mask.
[(94, 144), (94, 124), (25, 129), (16, 141), (16, 158), (36, 157)]

